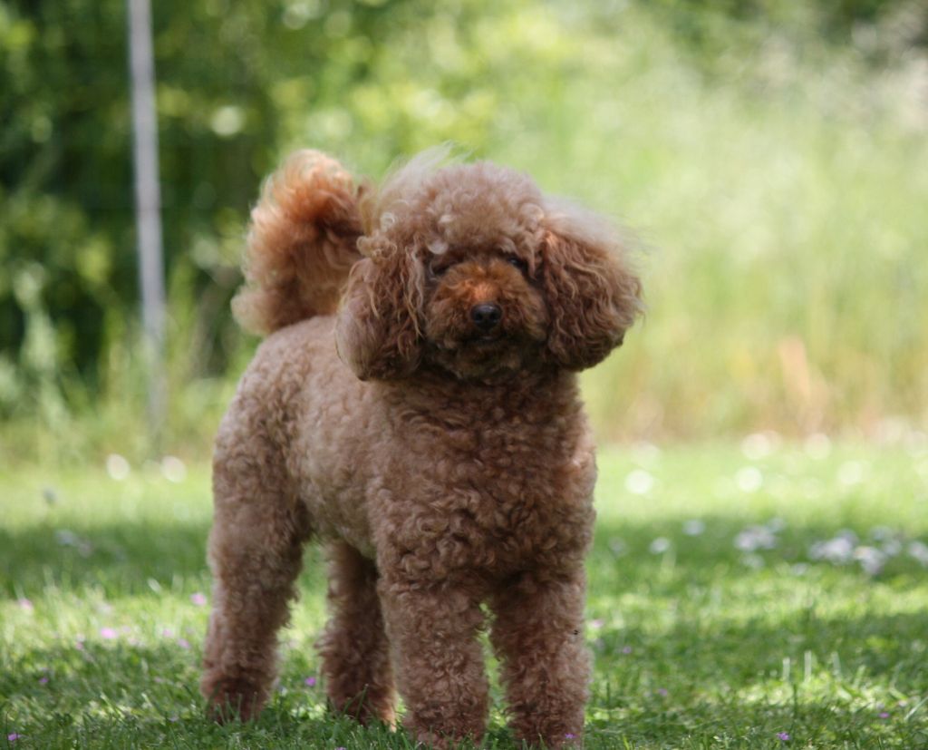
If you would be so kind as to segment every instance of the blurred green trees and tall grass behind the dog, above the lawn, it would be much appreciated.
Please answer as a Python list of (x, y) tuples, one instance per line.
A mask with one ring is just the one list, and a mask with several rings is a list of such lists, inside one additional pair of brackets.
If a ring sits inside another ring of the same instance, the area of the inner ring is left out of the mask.
[[(291, 149), (375, 179), (453, 140), (638, 237), (604, 439), (928, 422), (928, 6), (158, 0), (170, 402), (208, 455), (255, 340), (245, 222)], [(122, 0), (0, 0), (0, 452), (150, 450)]]

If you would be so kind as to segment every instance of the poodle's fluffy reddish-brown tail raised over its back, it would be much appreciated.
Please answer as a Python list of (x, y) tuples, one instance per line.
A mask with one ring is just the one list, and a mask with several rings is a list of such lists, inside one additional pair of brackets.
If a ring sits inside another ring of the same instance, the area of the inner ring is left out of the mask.
[(246, 283), (232, 301), (243, 328), (265, 334), (335, 312), (361, 257), (358, 193), (339, 162), (314, 150), (292, 154), (267, 179), (251, 212)]

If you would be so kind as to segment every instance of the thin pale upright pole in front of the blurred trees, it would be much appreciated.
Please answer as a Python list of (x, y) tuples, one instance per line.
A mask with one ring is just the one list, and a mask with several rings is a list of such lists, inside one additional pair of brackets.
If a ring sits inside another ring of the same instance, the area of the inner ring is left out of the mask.
[(157, 449), (167, 407), (164, 367), (164, 266), (161, 253), (161, 188), (158, 115), (148, 0), (127, 0), (135, 162), (135, 227), (142, 291), (144, 361), (148, 372), (148, 427)]

